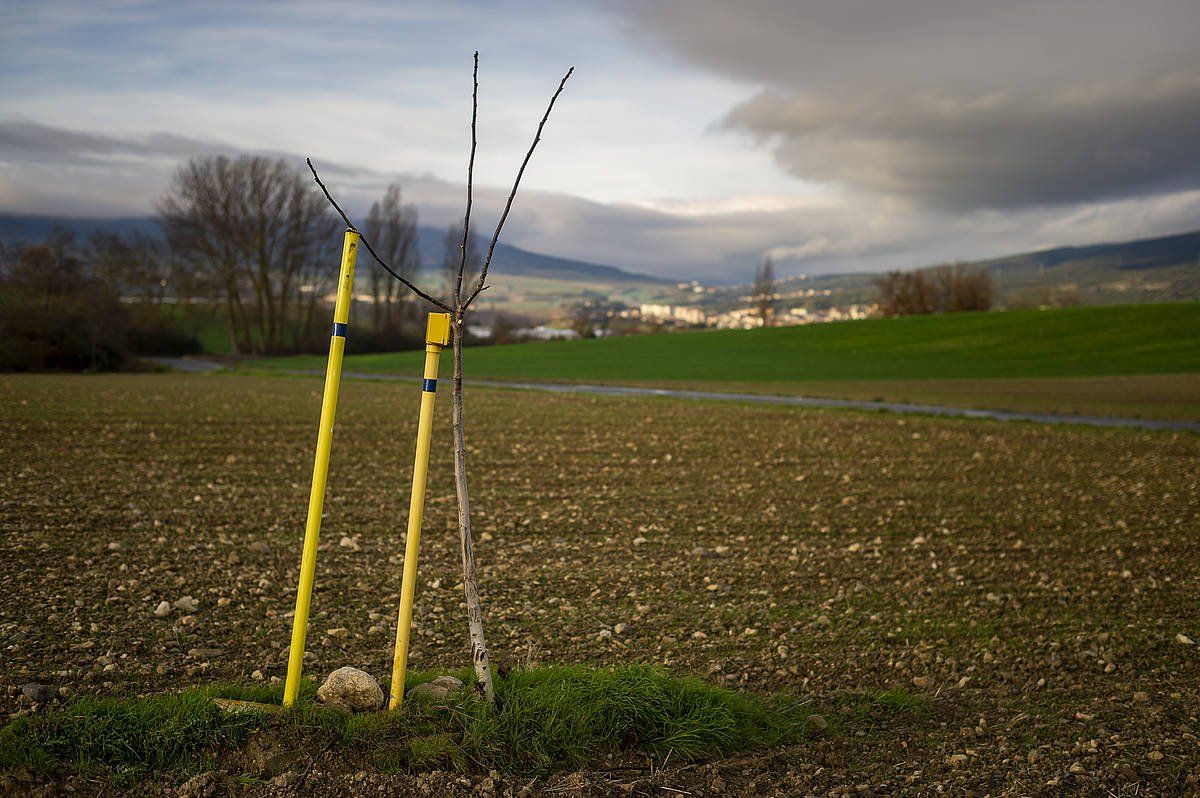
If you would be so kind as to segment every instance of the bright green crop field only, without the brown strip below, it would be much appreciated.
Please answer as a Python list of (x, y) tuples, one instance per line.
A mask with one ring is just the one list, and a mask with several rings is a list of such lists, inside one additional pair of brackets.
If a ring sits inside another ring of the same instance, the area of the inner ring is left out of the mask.
[[(350, 338), (353, 352), (353, 335)], [(1200, 302), (868, 319), (487, 347), (476, 377), (805, 382), (1200, 372)], [(419, 373), (424, 354), (350, 355), (364, 372)], [(322, 356), (257, 365), (314, 368)]]

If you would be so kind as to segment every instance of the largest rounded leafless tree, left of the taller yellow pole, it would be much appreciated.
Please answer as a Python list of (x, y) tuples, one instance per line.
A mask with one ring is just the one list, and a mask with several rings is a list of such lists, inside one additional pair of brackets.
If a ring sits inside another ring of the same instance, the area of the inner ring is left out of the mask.
[(299, 173), (259, 156), (192, 158), (158, 210), (173, 252), (224, 294), (235, 353), (302, 343), (332, 284), (337, 221)]

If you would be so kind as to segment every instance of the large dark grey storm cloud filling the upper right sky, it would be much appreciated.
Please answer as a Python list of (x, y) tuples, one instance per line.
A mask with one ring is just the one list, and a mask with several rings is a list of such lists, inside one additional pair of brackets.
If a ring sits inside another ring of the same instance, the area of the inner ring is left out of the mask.
[(640, 36), (757, 85), (721, 124), (799, 178), (942, 210), (1200, 186), (1194, 0), (626, 8)]

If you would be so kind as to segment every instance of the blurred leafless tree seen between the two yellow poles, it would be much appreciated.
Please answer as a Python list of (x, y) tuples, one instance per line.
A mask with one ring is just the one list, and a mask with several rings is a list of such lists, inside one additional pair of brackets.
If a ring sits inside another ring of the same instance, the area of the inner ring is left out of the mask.
[[(365, 235), (376, 242), (380, 256), (404, 276), (412, 276), (420, 264), (416, 239), (416, 206), (401, 202), (400, 186), (388, 186), (383, 199), (376, 200), (367, 214)], [(395, 330), (403, 318), (403, 287), (371, 270), (371, 320), (377, 332)]]

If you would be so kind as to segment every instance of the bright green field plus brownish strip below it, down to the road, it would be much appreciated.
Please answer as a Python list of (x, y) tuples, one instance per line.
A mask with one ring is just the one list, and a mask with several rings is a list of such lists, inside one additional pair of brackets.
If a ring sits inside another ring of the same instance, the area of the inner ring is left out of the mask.
[[(353, 353), (354, 337), (349, 350)], [(424, 354), (354, 355), (420, 373)], [(320, 370), (323, 355), (251, 368)], [(1200, 304), (1022, 310), (480, 347), (469, 377), (714, 388), (1141, 418), (1200, 418)]]

